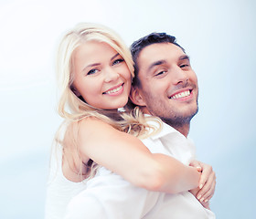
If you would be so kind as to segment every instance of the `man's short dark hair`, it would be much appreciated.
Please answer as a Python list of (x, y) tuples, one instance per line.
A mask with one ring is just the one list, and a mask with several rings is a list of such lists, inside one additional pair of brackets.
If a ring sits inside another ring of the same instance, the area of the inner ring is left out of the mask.
[[(151, 33), (147, 36), (144, 36), (136, 41), (133, 42), (132, 46), (130, 47), (132, 56), (133, 56), (133, 62), (134, 62), (134, 78), (133, 78), (133, 86), (140, 87), (140, 81), (138, 79), (138, 73), (139, 73), (139, 67), (138, 67), (138, 57), (141, 53), (141, 51), (144, 49), (144, 47), (150, 46), (152, 44), (157, 43), (172, 43), (176, 45), (177, 47), (180, 47), (176, 43), (176, 36), (170, 36), (166, 33)], [(184, 53), (185, 49), (183, 47), (180, 47)]]

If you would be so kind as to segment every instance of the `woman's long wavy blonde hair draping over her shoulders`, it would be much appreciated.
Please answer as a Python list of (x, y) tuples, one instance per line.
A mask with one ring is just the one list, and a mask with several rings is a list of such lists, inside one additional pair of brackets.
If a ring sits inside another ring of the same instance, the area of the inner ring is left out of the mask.
[[(62, 126), (67, 126), (66, 133), (73, 133), (72, 145), (67, 145), (60, 138), (59, 131), (56, 133), (56, 143), (62, 145), (63, 156), (69, 152), (77, 152), (80, 157), (80, 150), (76, 141), (80, 120), (87, 117), (94, 117), (103, 120), (113, 128), (131, 133), (137, 137), (144, 137), (149, 126), (143, 113), (139, 109), (130, 112), (119, 112), (113, 110), (101, 110), (87, 104), (83, 99), (75, 95), (72, 90), (74, 75), (72, 72), (73, 53), (77, 47), (87, 41), (104, 42), (115, 49), (126, 62), (133, 78), (133, 59), (130, 50), (125, 46), (123, 40), (110, 28), (98, 24), (81, 23), (69, 30), (63, 36), (58, 50), (57, 74), (59, 82), (59, 115), (65, 119)], [(75, 123), (74, 123), (75, 122)], [(61, 130), (61, 127), (59, 130)], [(77, 157), (77, 156), (76, 156)], [(81, 161), (81, 157), (80, 157)], [(74, 162), (74, 161), (73, 161)], [(93, 163), (92, 166), (95, 163)], [(80, 168), (81, 170), (81, 168)], [(93, 172), (93, 171), (91, 171)], [(79, 171), (81, 174), (81, 171)]]

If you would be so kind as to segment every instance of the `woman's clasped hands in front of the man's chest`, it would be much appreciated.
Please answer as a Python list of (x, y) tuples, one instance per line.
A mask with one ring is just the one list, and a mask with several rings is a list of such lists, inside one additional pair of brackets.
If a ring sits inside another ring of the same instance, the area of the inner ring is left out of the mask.
[(212, 198), (215, 192), (216, 175), (212, 167), (203, 162), (193, 161), (190, 166), (197, 167), (198, 172), (202, 172), (199, 181), (199, 187), (189, 191), (194, 194), (200, 203), (209, 209), (208, 201)]

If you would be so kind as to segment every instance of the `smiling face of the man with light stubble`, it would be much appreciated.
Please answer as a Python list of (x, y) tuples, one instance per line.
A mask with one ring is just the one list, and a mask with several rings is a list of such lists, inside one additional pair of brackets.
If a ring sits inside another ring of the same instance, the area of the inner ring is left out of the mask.
[(182, 49), (171, 43), (144, 47), (138, 67), (134, 102), (170, 125), (189, 123), (197, 113), (197, 76)]

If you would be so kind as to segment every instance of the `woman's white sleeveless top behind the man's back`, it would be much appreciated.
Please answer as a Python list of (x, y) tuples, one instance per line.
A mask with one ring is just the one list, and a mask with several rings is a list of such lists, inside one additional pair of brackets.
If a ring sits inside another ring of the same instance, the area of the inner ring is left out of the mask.
[(87, 180), (69, 181), (62, 172), (62, 147), (52, 150), (47, 185), (45, 219), (63, 219), (72, 197), (86, 188)]

